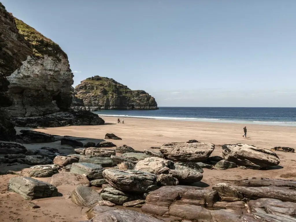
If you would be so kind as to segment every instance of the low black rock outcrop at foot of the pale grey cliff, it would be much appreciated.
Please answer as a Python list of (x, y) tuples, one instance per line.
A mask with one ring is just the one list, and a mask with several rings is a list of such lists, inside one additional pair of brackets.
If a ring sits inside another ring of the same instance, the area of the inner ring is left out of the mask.
[(105, 121), (97, 114), (87, 111), (65, 111), (55, 112), (43, 116), (13, 117), (15, 126), (19, 127), (60, 127), (60, 126), (81, 126), (81, 125), (104, 125)]

